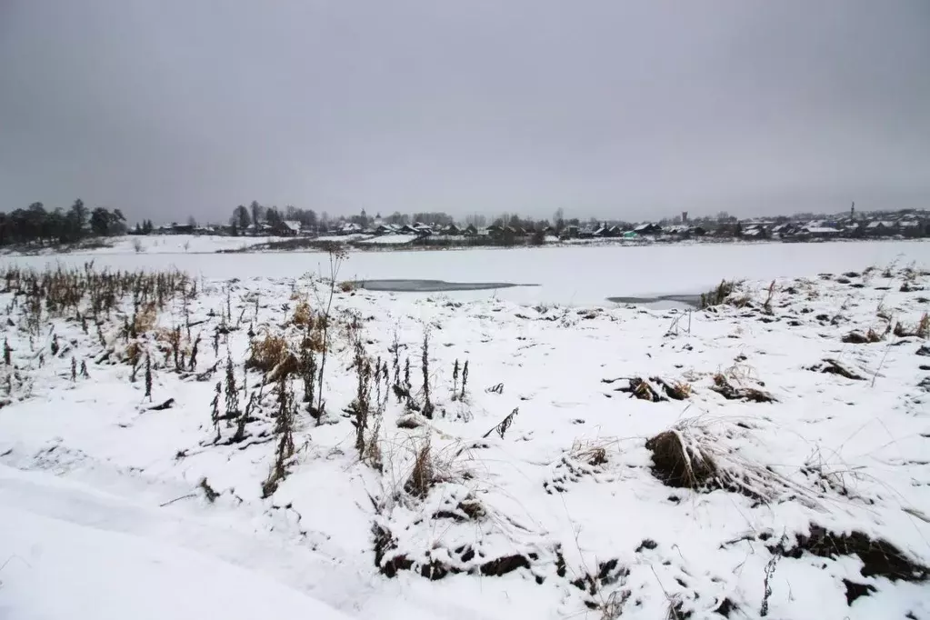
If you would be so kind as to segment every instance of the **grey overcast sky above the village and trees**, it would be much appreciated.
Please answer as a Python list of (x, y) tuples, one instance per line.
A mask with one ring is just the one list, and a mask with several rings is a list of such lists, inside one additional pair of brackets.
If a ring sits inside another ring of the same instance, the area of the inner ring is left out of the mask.
[(0, 0), (0, 210), (930, 207), (927, 0)]

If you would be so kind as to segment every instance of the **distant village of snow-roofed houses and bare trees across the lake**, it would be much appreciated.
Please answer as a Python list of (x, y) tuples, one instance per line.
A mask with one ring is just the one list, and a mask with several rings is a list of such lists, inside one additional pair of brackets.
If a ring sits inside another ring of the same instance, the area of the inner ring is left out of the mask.
[(330, 219), (313, 211), (287, 207), (237, 207), (223, 225), (198, 225), (193, 218), (185, 224), (153, 227), (145, 222), (130, 231), (135, 234), (219, 234), (252, 237), (303, 237), (308, 239), (358, 239), (384, 237), (384, 243), (419, 245), (519, 245), (552, 241), (618, 239), (643, 242), (676, 242), (687, 239), (719, 241), (805, 242), (830, 239), (918, 238), (930, 236), (930, 211), (857, 213), (855, 204), (840, 215), (800, 214), (777, 218), (734, 218), (725, 213), (713, 218), (676, 218), (659, 221), (623, 222), (563, 218), (532, 220), (519, 216), (496, 218), (491, 223), (481, 216), (457, 222), (445, 213), (402, 215), (388, 218), (359, 216)]

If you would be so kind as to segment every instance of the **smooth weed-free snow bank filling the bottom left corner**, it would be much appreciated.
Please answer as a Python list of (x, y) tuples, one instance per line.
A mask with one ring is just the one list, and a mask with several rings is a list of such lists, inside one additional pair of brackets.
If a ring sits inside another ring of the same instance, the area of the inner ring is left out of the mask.
[(47, 473), (0, 468), (0, 617), (349, 617), (264, 574), (154, 539), (159, 520)]

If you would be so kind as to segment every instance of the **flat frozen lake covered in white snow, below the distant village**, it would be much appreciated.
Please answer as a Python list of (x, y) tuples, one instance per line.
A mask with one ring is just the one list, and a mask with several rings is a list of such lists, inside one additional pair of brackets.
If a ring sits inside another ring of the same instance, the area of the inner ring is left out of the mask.
[[(202, 240), (202, 244), (203, 241)], [(90, 252), (40, 257), (2, 257), (42, 268), (83, 265), (113, 269), (177, 267), (207, 278), (297, 277), (328, 273), (328, 257), (316, 252), (186, 254)], [(652, 246), (547, 247), (455, 251), (354, 252), (340, 280), (440, 280), (455, 283), (538, 284), (444, 293), (456, 298), (492, 296), (526, 303), (609, 303), (607, 297), (655, 297), (706, 291), (721, 279), (798, 277), (864, 270), (897, 261), (930, 267), (930, 243), (922, 241), (825, 244), (669, 244)], [(384, 295), (435, 293), (384, 293)]]

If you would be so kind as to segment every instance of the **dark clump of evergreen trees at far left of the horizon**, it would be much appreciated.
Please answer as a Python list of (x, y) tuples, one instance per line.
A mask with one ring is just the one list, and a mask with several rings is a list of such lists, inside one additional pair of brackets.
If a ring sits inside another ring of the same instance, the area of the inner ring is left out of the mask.
[(119, 209), (89, 209), (77, 199), (67, 211), (47, 210), (42, 203), (0, 212), (0, 245), (71, 244), (89, 237), (108, 237), (126, 232), (126, 218)]

